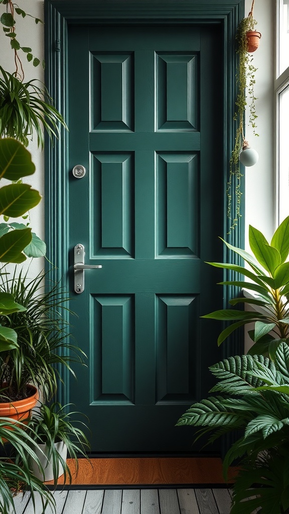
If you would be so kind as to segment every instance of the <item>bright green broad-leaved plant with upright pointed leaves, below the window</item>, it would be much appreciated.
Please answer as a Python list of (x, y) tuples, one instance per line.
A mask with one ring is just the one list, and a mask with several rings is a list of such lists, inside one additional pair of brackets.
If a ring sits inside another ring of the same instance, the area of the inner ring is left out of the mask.
[(254, 322), (255, 329), (249, 331), (254, 341), (249, 354), (269, 354), (274, 359), (279, 345), (282, 342), (289, 343), (289, 216), (277, 228), (270, 243), (259, 230), (249, 227), (252, 254), (226, 241), (224, 243), (244, 259), (248, 268), (226, 263), (208, 264), (240, 273), (249, 279), (231, 280), (221, 284), (234, 285), (253, 292), (252, 299), (231, 299), (229, 303), (232, 306), (240, 303), (256, 308), (246, 311), (234, 308), (215, 310), (203, 318), (232, 322), (220, 334), (219, 345), (240, 326)]

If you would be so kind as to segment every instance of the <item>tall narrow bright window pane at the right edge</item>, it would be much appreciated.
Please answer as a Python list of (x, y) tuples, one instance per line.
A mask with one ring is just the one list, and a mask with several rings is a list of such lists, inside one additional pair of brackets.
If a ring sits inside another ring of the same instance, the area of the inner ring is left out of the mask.
[(277, 0), (276, 31), (276, 217), (289, 215), (289, 0)]

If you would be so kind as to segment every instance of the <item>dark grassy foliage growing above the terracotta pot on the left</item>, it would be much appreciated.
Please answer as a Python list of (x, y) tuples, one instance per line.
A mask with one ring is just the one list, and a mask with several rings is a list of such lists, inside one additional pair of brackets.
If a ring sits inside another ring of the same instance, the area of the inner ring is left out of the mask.
[(30, 280), (28, 271), (16, 272), (15, 267), (12, 278), (2, 274), (0, 280), (0, 291), (11, 293), (25, 309), (1, 316), (2, 327), (15, 331), (17, 347), (0, 352), (0, 388), (5, 388), (5, 398), (15, 401), (25, 398), (27, 384), (33, 383), (49, 399), (61, 380), (56, 366), (65, 366), (74, 374), (69, 363), (83, 363), (85, 354), (69, 340), (68, 323), (60, 313), (67, 300), (61, 285), (49, 283), (45, 288), (46, 274)]

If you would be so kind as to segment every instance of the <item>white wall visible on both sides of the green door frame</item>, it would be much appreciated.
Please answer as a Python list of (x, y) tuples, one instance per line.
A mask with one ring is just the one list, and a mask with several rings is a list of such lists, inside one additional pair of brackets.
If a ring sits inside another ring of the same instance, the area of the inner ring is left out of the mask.
[[(258, 163), (246, 169), (245, 189), (245, 225), (246, 234), (248, 225), (251, 224), (265, 233), (269, 238), (274, 231), (274, 0), (256, 0), (254, 17), (258, 21), (257, 30), (262, 33), (259, 49), (254, 53), (254, 63), (258, 68), (256, 72), (255, 94), (257, 111), (257, 132), (259, 137), (246, 130), (246, 139), (259, 153)], [(33, 2), (19, 2), (20, 7), (27, 12), (43, 20), (42, 0)], [(251, 8), (251, 0), (245, 2), (245, 14)], [(5, 6), (0, 5), (0, 13)], [(16, 15), (17, 39), (22, 46), (32, 47), (35, 56), (40, 59), (43, 56), (43, 26), (35, 25), (32, 19)], [(25, 30), (22, 27), (25, 27)], [(13, 72), (13, 53), (9, 46), (8, 38), (1, 35), (0, 64), (8, 71)], [(41, 65), (34, 68), (31, 63), (25, 61), (25, 80), (39, 78), (43, 80)], [(31, 143), (29, 150), (32, 152), (37, 171), (30, 177), (33, 186), (42, 194), (44, 193), (44, 167), (43, 154), (37, 150), (35, 142)], [(28, 181), (28, 179), (27, 179)], [(40, 206), (31, 210), (31, 226), (33, 231), (43, 236), (44, 233), (44, 201)], [(246, 236), (247, 237), (247, 236)], [(248, 246), (246, 241), (246, 247)], [(40, 270), (43, 262), (34, 260), (33, 267)]]

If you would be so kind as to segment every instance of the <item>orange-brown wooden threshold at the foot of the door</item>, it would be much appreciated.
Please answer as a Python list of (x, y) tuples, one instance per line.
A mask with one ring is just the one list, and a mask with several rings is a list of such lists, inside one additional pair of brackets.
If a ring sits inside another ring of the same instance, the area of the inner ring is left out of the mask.
[[(221, 458), (216, 457), (112, 457), (68, 459), (73, 485), (225, 484)], [(233, 478), (231, 472), (230, 480)], [(52, 484), (53, 482), (47, 482)], [(63, 476), (59, 479), (63, 484)]]

